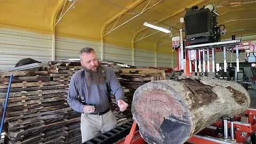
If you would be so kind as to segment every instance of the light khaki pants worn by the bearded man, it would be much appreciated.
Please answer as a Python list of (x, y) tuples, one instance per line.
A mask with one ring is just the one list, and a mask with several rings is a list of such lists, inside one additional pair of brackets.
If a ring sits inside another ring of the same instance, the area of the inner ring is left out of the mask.
[(100, 133), (105, 133), (117, 126), (115, 115), (109, 110), (103, 115), (81, 115), (82, 142), (90, 140)]

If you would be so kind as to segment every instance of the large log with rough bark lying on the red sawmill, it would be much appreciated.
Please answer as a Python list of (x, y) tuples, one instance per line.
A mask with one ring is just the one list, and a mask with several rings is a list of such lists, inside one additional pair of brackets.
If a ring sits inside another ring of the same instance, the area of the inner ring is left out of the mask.
[(203, 77), (149, 82), (134, 93), (132, 115), (148, 143), (184, 143), (224, 115), (250, 105), (238, 83)]

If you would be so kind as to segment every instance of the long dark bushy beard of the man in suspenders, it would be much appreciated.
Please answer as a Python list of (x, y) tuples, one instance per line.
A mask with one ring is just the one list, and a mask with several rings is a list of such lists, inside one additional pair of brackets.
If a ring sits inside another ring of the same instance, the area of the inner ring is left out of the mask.
[(86, 80), (87, 85), (101, 84), (104, 82), (104, 77), (103, 77), (101, 66), (98, 66), (96, 71), (87, 69), (85, 67), (83, 67), (83, 69), (85, 72), (85, 80)]

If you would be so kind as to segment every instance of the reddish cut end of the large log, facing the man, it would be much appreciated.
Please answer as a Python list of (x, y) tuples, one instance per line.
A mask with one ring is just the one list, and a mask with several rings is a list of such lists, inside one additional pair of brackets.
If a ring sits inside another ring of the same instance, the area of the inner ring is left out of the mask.
[(172, 87), (151, 82), (134, 95), (137, 97), (133, 99), (132, 114), (143, 139), (149, 143), (181, 143), (180, 140), (189, 137), (189, 109)]

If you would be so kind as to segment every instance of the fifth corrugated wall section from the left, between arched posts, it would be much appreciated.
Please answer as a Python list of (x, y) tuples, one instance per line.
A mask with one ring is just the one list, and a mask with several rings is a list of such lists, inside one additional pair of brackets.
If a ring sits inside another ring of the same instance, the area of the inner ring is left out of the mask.
[(172, 55), (156, 53), (157, 67), (172, 67)]

